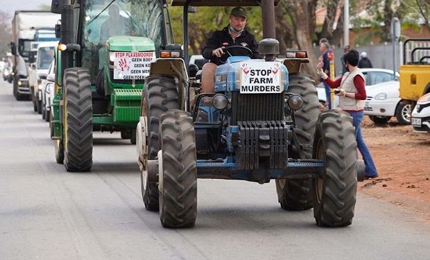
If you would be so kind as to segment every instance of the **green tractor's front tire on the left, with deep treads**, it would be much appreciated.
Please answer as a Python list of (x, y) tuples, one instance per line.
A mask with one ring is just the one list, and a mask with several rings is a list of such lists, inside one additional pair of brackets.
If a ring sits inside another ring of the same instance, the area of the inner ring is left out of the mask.
[(67, 171), (89, 171), (92, 167), (93, 125), (89, 71), (65, 69), (64, 144)]

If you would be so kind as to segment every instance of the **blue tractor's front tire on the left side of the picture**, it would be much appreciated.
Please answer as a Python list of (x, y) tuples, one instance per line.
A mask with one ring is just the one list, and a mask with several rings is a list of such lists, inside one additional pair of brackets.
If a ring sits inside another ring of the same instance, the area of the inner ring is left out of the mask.
[(172, 110), (162, 115), (160, 220), (163, 227), (192, 227), (197, 216), (197, 155), (193, 118)]

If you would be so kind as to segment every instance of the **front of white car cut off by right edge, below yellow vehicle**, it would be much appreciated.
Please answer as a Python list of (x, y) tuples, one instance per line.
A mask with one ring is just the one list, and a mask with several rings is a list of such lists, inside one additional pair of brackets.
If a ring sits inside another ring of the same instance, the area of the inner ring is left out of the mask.
[(430, 133), (430, 93), (418, 99), (413, 108), (411, 123), (414, 132)]

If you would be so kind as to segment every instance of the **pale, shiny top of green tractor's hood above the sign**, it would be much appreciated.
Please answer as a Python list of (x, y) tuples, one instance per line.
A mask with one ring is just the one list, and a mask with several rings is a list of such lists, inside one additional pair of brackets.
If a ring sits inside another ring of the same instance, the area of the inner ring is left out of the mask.
[(155, 51), (155, 44), (146, 37), (117, 36), (107, 40), (109, 51)]

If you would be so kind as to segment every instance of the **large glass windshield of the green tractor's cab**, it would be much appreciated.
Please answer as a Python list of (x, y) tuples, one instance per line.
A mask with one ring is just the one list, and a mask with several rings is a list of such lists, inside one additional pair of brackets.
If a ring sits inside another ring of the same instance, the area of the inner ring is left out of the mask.
[(92, 79), (101, 69), (100, 49), (110, 37), (148, 37), (157, 50), (162, 44), (161, 0), (88, 0), (83, 11), (82, 66), (89, 69)]

